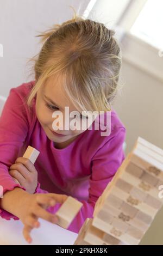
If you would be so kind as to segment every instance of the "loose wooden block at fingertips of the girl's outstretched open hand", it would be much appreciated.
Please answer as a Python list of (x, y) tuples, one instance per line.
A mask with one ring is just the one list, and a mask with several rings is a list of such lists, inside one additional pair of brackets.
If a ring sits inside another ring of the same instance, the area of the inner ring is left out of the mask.
[(57, 224), (62, 228), (68, 228), (82, 206), (83, 204), (78, 200), (68, 197), (55, 214), (59, 219)]

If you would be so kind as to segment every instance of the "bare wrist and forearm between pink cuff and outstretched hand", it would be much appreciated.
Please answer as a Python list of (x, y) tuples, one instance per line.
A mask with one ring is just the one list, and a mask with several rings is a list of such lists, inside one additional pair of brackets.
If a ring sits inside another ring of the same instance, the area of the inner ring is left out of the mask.
[(22, 200), (28, 194), (22, 188), (15, 187), (14, 190), (4, 193), (3, 198), (0, 199), (0, 208), (18, 217), (18, 213), (22, 207)]

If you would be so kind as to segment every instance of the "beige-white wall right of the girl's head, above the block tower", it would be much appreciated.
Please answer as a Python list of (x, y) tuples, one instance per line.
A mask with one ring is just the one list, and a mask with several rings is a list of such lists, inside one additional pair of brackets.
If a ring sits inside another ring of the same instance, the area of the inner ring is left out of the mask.
[(163, 57), (159, 49), (126, 35), (121, 42), (124, 82), (114, 107), (127, 128), (127, 153), (138, 136), (163, 149)]

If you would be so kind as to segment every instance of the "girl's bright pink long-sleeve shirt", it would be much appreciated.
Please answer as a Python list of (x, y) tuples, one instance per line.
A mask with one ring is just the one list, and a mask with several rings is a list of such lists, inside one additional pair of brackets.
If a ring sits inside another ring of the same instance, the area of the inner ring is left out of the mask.
[[(39, 150), (34, 164), (38, 172), (35, 193), (67, 194), (82, 202), (82, 209), (68, 227), (78, 233), (85, 219), (93, 216), (98, 197), (125, 158), (126, 129), (112, 109), (110, 135), (101, 136), (101, 130), (95, 130), (92, 125), (92, 130), (81, 133), (66, 148), (57, 149), (36, 117), (35, 101), (32, 109), (27, 106), (26, 100), (34, 84), (35, 81), (31, 81), (11, 88), (5, 102), (0, 117), (0, 185), (3, 193), (15, 187), (26, 190), (12, 179), (9, 168), (28, 145)], [(55, 214), (60, 206), (57, 203), (47, 210)], [(3, 209), (0, 209), (0, 216), (18, 220), (17, 216)]]

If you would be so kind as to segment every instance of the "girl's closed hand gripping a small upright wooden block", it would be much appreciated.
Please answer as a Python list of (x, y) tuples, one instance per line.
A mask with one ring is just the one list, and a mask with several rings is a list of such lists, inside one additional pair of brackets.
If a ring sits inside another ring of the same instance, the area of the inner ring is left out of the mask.
[(33, 194), (37, 187), (37, 170), (26, 157), (18, 157), (10, 166), (9, 174), (15, 178), (26, 191)]

